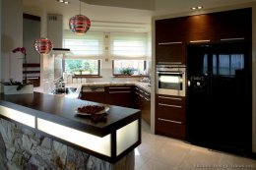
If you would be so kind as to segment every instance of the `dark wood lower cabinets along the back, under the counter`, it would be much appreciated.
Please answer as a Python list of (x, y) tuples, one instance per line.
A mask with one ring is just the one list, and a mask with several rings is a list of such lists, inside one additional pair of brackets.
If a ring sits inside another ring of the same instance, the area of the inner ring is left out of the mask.
[(151, 125), (151, 93), (138, 86), (82, 86), (80, 99), (140, 109), (142, 119)]

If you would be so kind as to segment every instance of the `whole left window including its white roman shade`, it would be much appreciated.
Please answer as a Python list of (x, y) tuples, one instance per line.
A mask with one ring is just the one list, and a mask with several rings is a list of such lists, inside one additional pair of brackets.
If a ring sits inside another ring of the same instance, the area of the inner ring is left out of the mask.
[(102, 57), (103, 32), (76, 34), (64, 30), (63, 47), (70, 48), (72, 56), (64, 56), (65, 72), (75, 77), (99, 76)]

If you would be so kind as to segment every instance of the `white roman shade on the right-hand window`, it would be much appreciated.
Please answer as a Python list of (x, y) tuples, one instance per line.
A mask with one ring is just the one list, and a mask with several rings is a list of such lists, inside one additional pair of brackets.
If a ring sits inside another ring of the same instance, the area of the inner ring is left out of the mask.
[(147, 33), (110, 33), (110, 55), (113, 59), (146, 60), (147, 50)]

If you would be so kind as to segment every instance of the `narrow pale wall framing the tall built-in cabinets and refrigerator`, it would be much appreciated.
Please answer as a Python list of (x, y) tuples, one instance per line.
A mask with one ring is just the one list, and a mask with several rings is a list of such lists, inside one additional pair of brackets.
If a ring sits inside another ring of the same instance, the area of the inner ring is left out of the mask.
[[(182, 16), (191, 16), (191, 15), (196, 15), (196, 14), (205, 14), (205, 13), (212, 13), (212, 12), (221, 12), (221, 11), (227, 11), (227, 10), (232, 10), (232, 9), (239, 9), (239, 8), (247, 8), (251, 7), (252, 8), (252, 151), (256, 153), (256, 105), (253, 103), (256, 103), (256, 2), (253, 3), (246, 3), (242, 5), (236, 5), (236, 6), (228, 6), (228, 7), (223, 7), (223, 8), (213, 8), (209, 10), (202, 10), (200, 12), (191, 12), (191, 13), (180, 13), (180, 14), (175, 14), (175, 15), (164, 15), (164, 16), (158, 16), (154, 17), (152, 20), (152, 30), (153, 30), (153, 73), (155, 73), (155, 56), (156, 56), (156, 51), (155, 51), (155, 21), (160, 20), (160, 19), (168, 19), (168, 18), (175, 18), (175, 17), (182, 17)], [(153, 74), (155, 75), (155, 74)], [(156, 78), (154, 76), (153, 78), (154, 82), (156, 82)], [(155, 84), (152, 86), (152, 93), (155, 93)], [(152, 132), (155, 133), (155, 95), (152, 95)]]

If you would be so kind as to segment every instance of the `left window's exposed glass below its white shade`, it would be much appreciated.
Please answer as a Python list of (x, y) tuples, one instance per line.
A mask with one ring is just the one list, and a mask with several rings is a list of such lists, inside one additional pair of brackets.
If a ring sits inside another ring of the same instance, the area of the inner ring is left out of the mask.
[(75, 76), (99, 76), (100, 61), (65, 59), (65, 72)]

